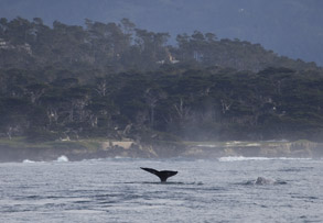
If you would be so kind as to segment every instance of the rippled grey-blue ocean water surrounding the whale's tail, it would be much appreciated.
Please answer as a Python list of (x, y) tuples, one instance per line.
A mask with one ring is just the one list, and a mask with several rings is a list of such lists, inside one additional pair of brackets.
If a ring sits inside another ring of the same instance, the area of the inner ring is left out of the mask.
[(323, 222), (322, 172), (322, 159), (265, 157), (4, 163), (0, 222)]

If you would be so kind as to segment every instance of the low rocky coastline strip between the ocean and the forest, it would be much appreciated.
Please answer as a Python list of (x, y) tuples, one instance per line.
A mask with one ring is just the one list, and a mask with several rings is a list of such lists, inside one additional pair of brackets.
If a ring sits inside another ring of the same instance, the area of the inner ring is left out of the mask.
[(139, 143), (131, 140), (79, 140), (28, 143), (23, 138), (0, 140), (0, 163), (50, 161), (60, 156), (76, 161), (94, 158), (219, 158), (219, 157), (323, 157), (323, 143), (305, 140), (266, 142), (166, 142)]

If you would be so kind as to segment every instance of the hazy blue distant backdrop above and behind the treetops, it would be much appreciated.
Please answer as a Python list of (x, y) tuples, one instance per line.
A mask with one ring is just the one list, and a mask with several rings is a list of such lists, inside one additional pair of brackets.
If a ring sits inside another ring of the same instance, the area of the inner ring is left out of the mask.
[(1, 0), (0, 16), (42, 18), (83, 25), (84, 19), (117, 22), (128, 18), (138, 26), (169, 32), (170, 42), (194, 30), (220, 38), (260, 43), (279, 55), (323, 66), (322, 0)]

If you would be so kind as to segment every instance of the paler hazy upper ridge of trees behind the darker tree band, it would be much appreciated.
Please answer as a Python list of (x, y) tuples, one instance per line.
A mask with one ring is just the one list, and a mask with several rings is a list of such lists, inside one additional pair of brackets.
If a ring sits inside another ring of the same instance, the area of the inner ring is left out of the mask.
[(84, 26), (58, 21), (50, 27), (40, 18), (28, 21), (0, 19), (0, 67), (55, 66), (68, 70), (154, 70), (164, 64), (220, 66), (259, 71), (267, 67), (315, 69), (314, 63), (293, 60), (266, 51), (259, 44), (218, 40), (215, 34), (195, 31), (177, 35), (177, 46), (168, 45), (168, 33), (138, 29), (128, 19), (119, 23), (90, 20)]

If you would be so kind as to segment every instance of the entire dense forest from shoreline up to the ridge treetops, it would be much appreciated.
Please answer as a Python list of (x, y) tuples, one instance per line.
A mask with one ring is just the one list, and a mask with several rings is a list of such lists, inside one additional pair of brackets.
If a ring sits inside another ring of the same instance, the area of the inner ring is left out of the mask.
[(323, 70), (213, 33), (0, 20), (0, 134), (28, 141), (323, 138)]

